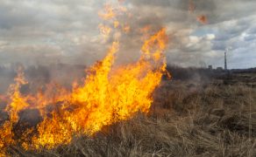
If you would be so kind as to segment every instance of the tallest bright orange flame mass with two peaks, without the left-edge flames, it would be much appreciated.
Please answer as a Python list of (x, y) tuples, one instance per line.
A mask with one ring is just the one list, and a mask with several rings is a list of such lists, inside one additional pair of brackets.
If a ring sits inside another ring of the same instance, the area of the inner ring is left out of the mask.
[(112, 68), (119, 46), (114, 42), (106, 58), (89, 69), (84, 84), (73, 90), (68, 104), (39, 124), (33, 146), (68, 144), (76, 133), (93, 134), (139, 111), (148, 113), (153, 90), (166, 68), (161, 58), (166, 43), (166, 30), (162, 29), (142, 46), (138, 63)]

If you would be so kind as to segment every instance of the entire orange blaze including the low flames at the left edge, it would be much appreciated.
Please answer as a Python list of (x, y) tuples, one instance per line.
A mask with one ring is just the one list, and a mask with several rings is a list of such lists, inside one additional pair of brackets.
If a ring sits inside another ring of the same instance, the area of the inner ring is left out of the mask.
[[(100, 17), (118, 22), (110, 5), (105, 10)], [(115, 24), (112, 27), (115, 28)], [(102, 32), (107, 36), (111, 33)], [(148, 113), (153, 102), (153, 91), (166, 72), (166, 29), (162, 28), (144, 41), (141, 56), (133, 64), (115, 65), (120, 44), (115, 38), (106, 57), (89, 67), (82, 85), (74, 84), (69, 92), (58, 85), (47, 85), (46, 91), (39, 90), (25, 96), (19, 90), (27, 82), (24, 72), (18, 71), (6, 107), (10, 119), (0, 130), (1, 150), (5, 151), (11, 145), (20, 145), (25, 149), (51, 149), (70, 143), (74, 136), (93, 135), (103, 126), (131, 119), (139, 112)], [(53, 110), (49, 111), (48, 106)], [(19, 120), (18, 113), (31, 108), (39, 110), (43, 120), (37, 126), (23, 130), (18, 140), (14, 139), (13, 126)]]

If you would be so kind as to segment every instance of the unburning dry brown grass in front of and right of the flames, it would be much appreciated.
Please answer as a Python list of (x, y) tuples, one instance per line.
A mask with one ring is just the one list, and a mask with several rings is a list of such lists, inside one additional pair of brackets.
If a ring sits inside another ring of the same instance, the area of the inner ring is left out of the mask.
[(164, 79), (148, 115), (106, 126), (68, 146), (11, 156), (256, 156), (256, 73)]

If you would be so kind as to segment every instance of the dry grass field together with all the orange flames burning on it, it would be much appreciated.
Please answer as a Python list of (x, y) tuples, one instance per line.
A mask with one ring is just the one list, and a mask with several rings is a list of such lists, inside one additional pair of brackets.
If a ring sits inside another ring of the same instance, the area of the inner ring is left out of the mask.
[(162, 80), (170, 77), (165, 28), (152, 35), (146, 28), (139, 60), (115, 65), (119, 38), (132, 31), (118, 21), (127, 10), (117, 6), (107, 4), (99, 12), (104, 41), (112, 36), (113, 42), (81, 84), (22, 93), (29, 84), (18, 71), (15, 84), (1, 96), (6, 102), (1, 112), (7, 115), (1, 117), (0, 155), (254, 155), (255, 89)]

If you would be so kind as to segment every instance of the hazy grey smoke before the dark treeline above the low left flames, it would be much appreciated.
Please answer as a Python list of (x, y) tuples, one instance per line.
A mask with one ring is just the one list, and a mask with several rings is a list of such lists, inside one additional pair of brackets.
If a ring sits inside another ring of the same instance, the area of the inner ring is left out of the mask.
[[(20, 64), (11, 66), (0, 66), (0, 96), (8, 92), (8, 88), (14, 83)], [(84, 65), (30, 65), (24, 68), (27, 85), (23, 85), (20, 92), (23, 94), (38, 92), (46, 85), (55, 84), (63, 86), (69, 90), (74, 82), (80, 83), (85, 78), (86, 66)]]

